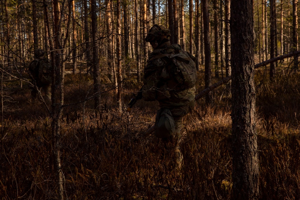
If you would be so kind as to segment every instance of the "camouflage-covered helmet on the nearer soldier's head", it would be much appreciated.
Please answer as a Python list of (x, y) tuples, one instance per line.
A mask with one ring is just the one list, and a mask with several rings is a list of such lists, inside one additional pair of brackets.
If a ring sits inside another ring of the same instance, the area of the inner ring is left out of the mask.
[(150, 28), (145, 40), (146, 42), (161, 41), (162, 39), (168, 39), (170, 36), (171, 34), (169, 29), (155, 24), (152, 28)]

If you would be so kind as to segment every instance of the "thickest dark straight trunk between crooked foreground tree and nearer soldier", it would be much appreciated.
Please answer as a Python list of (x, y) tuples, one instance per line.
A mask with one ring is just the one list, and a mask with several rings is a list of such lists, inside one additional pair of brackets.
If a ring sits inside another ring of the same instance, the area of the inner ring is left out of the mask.
[(97, 42), (97, 4), (96, 0), (91, 0), (91, 25), (92, 25), (92, 44), (93, 44), (93, 79), (95, 104), (94, 109), (100, 105), (100, 67), (99, 67), (99, 47)]

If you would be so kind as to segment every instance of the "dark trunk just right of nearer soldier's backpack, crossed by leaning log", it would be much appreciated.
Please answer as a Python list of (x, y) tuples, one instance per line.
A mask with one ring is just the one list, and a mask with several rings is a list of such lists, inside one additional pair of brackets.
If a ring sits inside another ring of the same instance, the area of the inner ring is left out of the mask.
[[(211, 53), (210, 53), (210, 35), (209, 35), (209, 13), (208, 1), (202, 0), (202, 14), (203, 14), (203, 34), (204, 34), (204, 54), (205, 54), (205, 88), (211, 85)], [(212, 102), (212, 92), (205, 96), (206, 104)]]

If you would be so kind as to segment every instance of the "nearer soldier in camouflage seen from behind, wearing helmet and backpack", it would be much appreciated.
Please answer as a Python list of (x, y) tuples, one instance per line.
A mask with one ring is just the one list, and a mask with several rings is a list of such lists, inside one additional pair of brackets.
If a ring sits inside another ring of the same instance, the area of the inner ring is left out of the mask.
[[(150, 42), (154, 50), (144, 69), (143, 99), (159, 102), (155, 136), (164, 143), (165, 156), (171, 158), (170, 167), (178, 169), (183, 161), (179, 147), (182, 118), (195, 106), (196, 58), (181, 49), (179, 44), (171, 45), (169, 37), (169, 29), (157, 24), (146, 36), (146, 42)], [(184, 77), (189, 75), (180, 72), (189, 69), (192, 71), (190, 77)], [(180, 81), (187, 79), (191, 81), (189, 84)]]

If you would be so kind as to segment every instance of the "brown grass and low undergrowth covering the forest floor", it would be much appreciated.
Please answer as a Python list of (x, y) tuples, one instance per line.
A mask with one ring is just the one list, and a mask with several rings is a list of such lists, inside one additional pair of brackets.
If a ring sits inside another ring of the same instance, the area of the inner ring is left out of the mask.
[[(203, 70), (198, 72), (197, 93), (204, 89)], [(255, 73), (259, 199), (300, 196), (299, 75), (287, 62), (278, 63), (273, 82), (267, 67)], [(226, 85), (214, 90), (214, 103), (206, 106), (201, 98), (184, 117), (184, 164), (170, 171), (160, 140), (144, 135), (154, 124), (158, 103), (140, 100), (126, 112), (141, 87), (126, 74), (120, 112), (107, 76), (102, 70), (101, 106), (95, 112), (93, 100), (87, 100), (92, 76), (80, 70), (66, 74), (61, 118), (65, 199), (231, 199), (231, 96)], [(220, 79), (221, 73), (213, 82)], [(56, 199), (50, 114), (40, 100), (32, 99), (28, 84), (4, 84), (0, 199)]]

